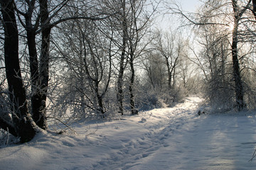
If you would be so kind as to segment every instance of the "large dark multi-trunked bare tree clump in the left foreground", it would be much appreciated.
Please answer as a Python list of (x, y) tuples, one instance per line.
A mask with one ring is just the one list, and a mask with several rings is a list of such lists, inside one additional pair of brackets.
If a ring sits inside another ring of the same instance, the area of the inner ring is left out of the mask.
[[(13, 106), (11, 109), (13, 115), (12, 122), (14, 123), (12, 128), (16, 132), (13, 135), (21, 137), (21, 142), (31, 140), (36, 133), (36, 127), (47, 128), (46, 98), (48, 96), (48, 82), (50, 79), (50, 35), (52, 28), (65, 21), (75, 19), (100, 20), (108, 17), (105, 14), (96, 14), (90, 17), (82, 16), (79, 11), (73, 16), (63, 18), (62, 16), (64, 15), (60, 11), (69, 2), (71, 1), (1, 1), (1, 23), (3, 23), (5, 33), (5, 69), (9, 83), (10, 107)], [(79, 5), (78, 2), (75, 2), (75, 5)], [(84, 1), (80, 2), (84, 3)], [(73, 6), (73, 8), (76, 7)], [(80, 8), (78, 9), (80, 10)], [(18, 16), (17, 21), (26, 30), (27, 42), (25, 43), (28, 45), (31, 74), (31, 114), (28, 113), (30, 110), (27, 105), (28, 96), (26, 96), (26, 89), (23, 86), (23, 78), (21, 77), (21, 68), (18, 60), (18, 29), (22, 29), (22, 27), (17, 26), (15, 13)], [(41, 45), (36, 42), (36, 35), (39, 34), (41, 35)], [(39, 47), (39, 50), (36, 50), (37, 47)], [(38, 51), (40, 54), (38, 54)], [(11, 129), (9, 125), (9, 123), (0, 124), (1, 128), (5, 130), (7, 128)], [(11, 130), (11, 132), (14, 132), (14, 130)]]

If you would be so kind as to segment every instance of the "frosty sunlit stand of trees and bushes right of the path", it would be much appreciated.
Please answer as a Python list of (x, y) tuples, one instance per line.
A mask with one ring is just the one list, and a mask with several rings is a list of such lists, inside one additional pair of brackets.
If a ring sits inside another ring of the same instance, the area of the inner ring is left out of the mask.
[(208, 0), (193, 15), (170, 7), (195, 30), (201, 50), (192, 50), (191, 61), (202, 71), (203, 94), (213, 111), (255, 108), (255, 4)]

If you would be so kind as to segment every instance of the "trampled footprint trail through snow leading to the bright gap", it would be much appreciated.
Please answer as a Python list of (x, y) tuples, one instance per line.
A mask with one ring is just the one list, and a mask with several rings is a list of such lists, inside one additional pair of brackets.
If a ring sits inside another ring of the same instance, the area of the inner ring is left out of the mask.
[[(180, 103), (174, 108), (154, 109), (146, 113), (147, 117), (144, 128), (146, 132), (141, 136), (131, 140), (120, 140), (119, 147), (112, 148), (109, 157), (105, 157), (100, 162), (94, 164), (95, 169), (164, 169), (170, 168), (169, 158), (174, 157), (171, 152), (167, 153), (172, 144), (174, 134), (181, 134), (184, 130), (189, 130), (194, 124), (200, 98), (188, 98), (184, 103)], [(166, 117), (166, 119), (161, 120)], [(159, 122), (150, 120), (156, 118)], [(149, 122), (149, 123), (147, 123)], [(178, 142), (178, 141), (176, 141)], [(155, 158), (155, 154), (163, 152), (161, 158)], [(149, 166), (151, 159), (154, 164)], [(156, 164), (156, 162), (159, 162)], [(161, 164), (161, 162), (165, 162)], [(144, 164), (144, 165), (143, 165)], [(169, 166), (166, 166), (169, 164)], [(164, 166), (163, 166), (164, 165)], [(163, 167), (161, 167), (163, 166)]]

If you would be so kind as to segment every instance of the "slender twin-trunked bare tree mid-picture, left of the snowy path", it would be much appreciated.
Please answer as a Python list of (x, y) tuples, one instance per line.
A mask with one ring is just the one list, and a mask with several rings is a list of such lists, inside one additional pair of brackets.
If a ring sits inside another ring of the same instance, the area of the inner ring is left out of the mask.
[[(112, 16), (117, 30), (114, 44), (119, 48), (119, 66), (117, 68), (117, 104), (119, 113), (124, 114), (124, 73), (129, 66), (129, 106), (132, 114), (137, 113), (134, 100), (134, 60), (142, 53), (145, 45), (140, 46), (141, 40), (146, 35), (151, 17), (156, 11), (156, 7), (148, 1), (139, 0), (117, 0), (105, 1), (107, 10), (116, 11)], [(114, 6), (114, 8), (113, 8)], [(149, 12), (149, 6), (152, 11)]]

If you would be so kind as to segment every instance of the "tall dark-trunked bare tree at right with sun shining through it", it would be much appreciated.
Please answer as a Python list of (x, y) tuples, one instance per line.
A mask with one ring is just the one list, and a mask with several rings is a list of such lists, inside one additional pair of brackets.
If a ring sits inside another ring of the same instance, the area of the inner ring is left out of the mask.
[[(183, 13), (179, 8), (174, 9), (174, 13), (179, 13), (185, 17), (194, 26), (213, 26), (220, 32), (230, 29), (230, 54), (233, 61), (233, 80), (235, 84), (235, 106), (238, 111), (245, 108), (244, 90), (242, 77), (240, 75), (240, 57), (239, 57), (239, 42), (243, 42), (241, 30), (247, 22), (243, 16), (247, 15), (247, 8), (250, 8), (250, 1), (206, 1), (202, 8), (203, 13), (197, 13), (198, 18), (191, 18)], [(207, 11), (205, 10), (207, 9)], [(197, 27), (198, 28), (198, 27)], [(210, 30), (208, 30), (210, 31)]]

